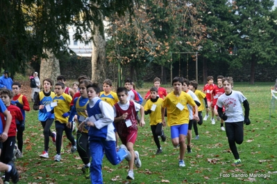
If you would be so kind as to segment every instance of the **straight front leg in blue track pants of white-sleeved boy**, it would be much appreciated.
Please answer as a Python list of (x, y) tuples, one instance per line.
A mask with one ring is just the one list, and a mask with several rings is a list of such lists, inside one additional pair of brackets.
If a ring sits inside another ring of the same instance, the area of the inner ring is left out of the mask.
[(103, 147), (101, 140), (90, 141), (90, 155), (92, 161), (90, 164), (90, 180), (92, 183), (103, 183), (102, 177), (102, 159), (103, 159)]

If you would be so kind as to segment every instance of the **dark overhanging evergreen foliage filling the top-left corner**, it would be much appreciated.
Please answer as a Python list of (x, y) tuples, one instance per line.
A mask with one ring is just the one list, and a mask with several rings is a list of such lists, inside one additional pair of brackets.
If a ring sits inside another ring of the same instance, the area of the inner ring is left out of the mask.
[[(93, 37), (83, 38), (87, 32), (94, 35), (92, 23), (99, 26), (99, 34), (104, 35), (101, 16), (108, 17), (115, 12), (124, 15), (125, 10), (132, 12), (133, 1), (28, 0), (23, 3), (11, 0), (1, 1), (0, 6), (1, 67), (15, 73), (24, 70), (33, 56), (47, 58), (49, 52), (44, 50), (51, 50), (55, 56), (61, 50), (67, 52), (68, 26), (76, 27), (74, 39), (82, 42), (92, 41)], [(58, 73), (59, 68), (56, 69), (53, 73)]]

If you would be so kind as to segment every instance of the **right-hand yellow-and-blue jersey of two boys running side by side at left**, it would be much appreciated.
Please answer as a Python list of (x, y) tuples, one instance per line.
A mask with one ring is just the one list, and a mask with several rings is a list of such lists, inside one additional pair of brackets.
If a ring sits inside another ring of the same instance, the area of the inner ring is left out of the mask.
[(57, 102), (57, 106), (54, 107), (55, 121), (59, 121), (60, 123), (67, 123), (68, 116), (66, 118), (62, 117), (62, 114), (69, 112), (70, 110), (70, 102), (72, 102), (71, 95), (67, 95), (62, 93), (60, 96), (55, 96), (53, 98), (53, 102)]

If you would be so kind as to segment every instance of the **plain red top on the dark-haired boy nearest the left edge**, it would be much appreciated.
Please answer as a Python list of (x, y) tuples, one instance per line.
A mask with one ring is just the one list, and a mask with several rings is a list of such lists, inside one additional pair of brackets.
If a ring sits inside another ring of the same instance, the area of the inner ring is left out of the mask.
[[(17, 135), (17, 124), (16, 120), (22, 121), (23, 116), (20, 109), (15, 105), (10, 105), (7, 107), (7, 110), (10, 112), (10, 115), (12, 116), (12, 122), (10, 123), (10, 129), (8, 130), (8, 137), (16, 136)], [(5, 116), (3, 116), (3, 113), (0, 113), (1, 120), (3, 123), (3, 129), (5, 129), (6, 126), (6, 119)]]

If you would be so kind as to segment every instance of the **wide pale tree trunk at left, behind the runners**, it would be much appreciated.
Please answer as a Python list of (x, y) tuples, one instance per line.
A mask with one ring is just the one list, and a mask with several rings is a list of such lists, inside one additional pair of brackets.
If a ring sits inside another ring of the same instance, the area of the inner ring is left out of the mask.
[(48, 58), (43, 58), (40, 64), (40, 84), (42, 86), (42, 81), (46, 78), (50, 78), (53, 81), (53, 85), (55, 85), (57, 77), (60, 75), (59, 60), (53, 55), (51, 50), (46, 50), (46, 53)]

